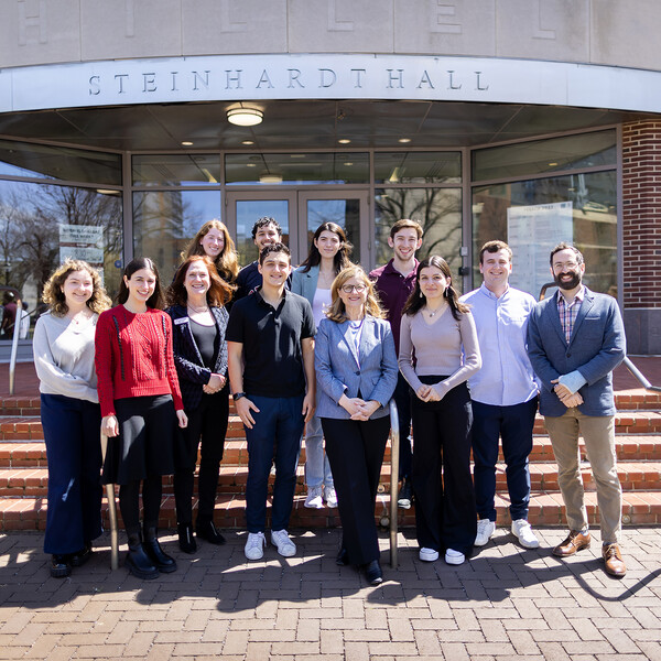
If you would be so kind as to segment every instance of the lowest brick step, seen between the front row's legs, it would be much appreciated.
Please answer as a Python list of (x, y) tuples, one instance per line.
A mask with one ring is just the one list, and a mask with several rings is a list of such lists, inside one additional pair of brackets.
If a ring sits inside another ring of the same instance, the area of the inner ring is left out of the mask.
[[(333, 528), (338, 527), (339, 513), (337, 509), (323, 508), (312, 510), (303, 507), (304, 496), (296, 496), (290, 527), (301, 529)], [(592, 525), (599, 522), (597, 510), (597, 495), (594, 491), (585, 494), (588, 519)], [(107, 503), (104, 501), (105, 527), (108, 528)], [(194, 500), (193, 507), (197, 507)], [(509, 502), (505, 496), (497, 496), (496, 509), (498, 513), (497, 523), (509, 525)], [(220, 494), (216, 501), (214, 520), (223, 529), (245, 529), (246, 501), (231, 494)], [(270, 518), (270, 507), (267, 517)], [(195, 516), (195, 514), (194, 514)], [(377, 498), (376, 521), (382, 522), (383, 518), (390, 516), (390, 498), (380, 495)], [(121, 513), (119, 513), (121, 525)], [(535, 525), (565, 527), (566, 520), (564, 506), (560, 494), (532, 492), (530, 499), (529, 520)], [(622, 522), (626, 525), (652, 525), (661, 524), (661, 494), (658, 491), (625, 492), (622, 495)], [(11, 530), (44, 530), (46, 524), (46, 499), (42, 497), (7, 498), (0, 500), (0, 531)], [(267, 527), (269, 527), (269, 519)], [(402, 528), (415, 525), (415, 507), (402, 510), (398, 509), (398, 524)], [(166, 496), (161, 508), (159, 525), (162, 529), (175, 529), (176, 517), (174, 511), (174, 497)]]

